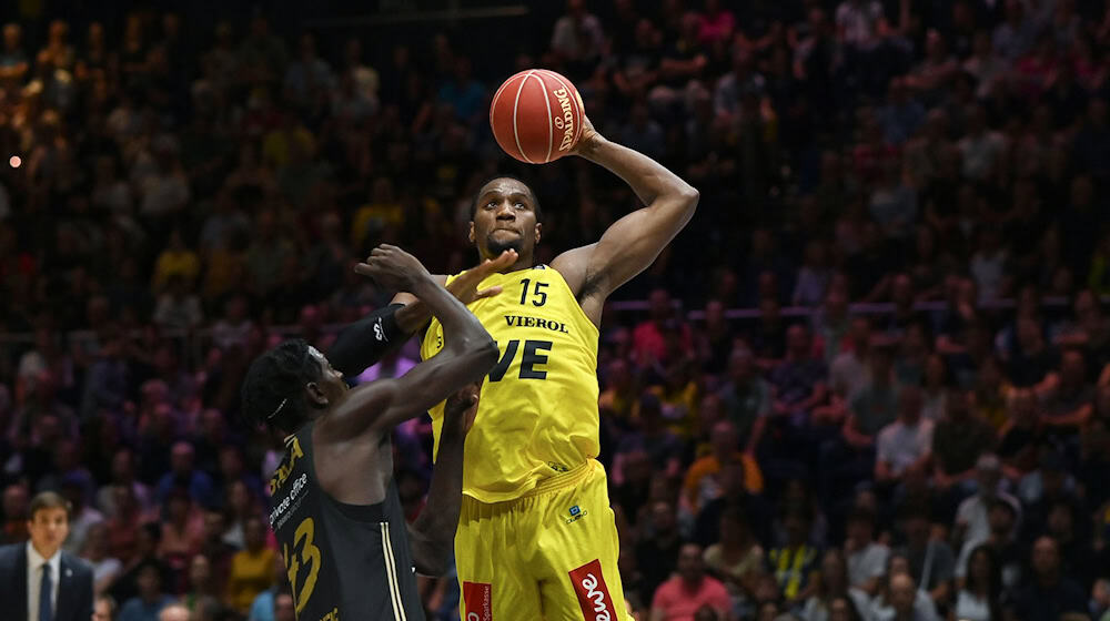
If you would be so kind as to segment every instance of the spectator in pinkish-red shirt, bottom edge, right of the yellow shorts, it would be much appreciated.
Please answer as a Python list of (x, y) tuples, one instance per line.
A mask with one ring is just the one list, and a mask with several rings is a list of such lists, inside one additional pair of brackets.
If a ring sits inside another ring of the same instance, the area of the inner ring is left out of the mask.
[(678, 553), (678, 574), (667, 580), (652, 598), (652, 619), (679, 621), (693, 619), (703, 605), (709, 605), (718, 614), (728, 613), (730, 602), (728, 591), (716, 578), (705, 574), (702, 548), (686, 543)]

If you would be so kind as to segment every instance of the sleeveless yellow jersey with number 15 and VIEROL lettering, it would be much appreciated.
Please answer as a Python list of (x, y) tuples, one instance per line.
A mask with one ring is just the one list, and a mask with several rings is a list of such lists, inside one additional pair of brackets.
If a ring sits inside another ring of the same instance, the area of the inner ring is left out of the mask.
[[(501, 350), (482, 383), (463, 460), (463, 492), (482, 502), (518, 498), (598, 451), (597, 326), (549, 266), (493, 274), (478, 288), (492, 286), (502, 293), (470, 305)], [(421, 357), (442, 348), (443, 326), (433, 318)], [(430, 414), (438, 451), (443, 404)]]

